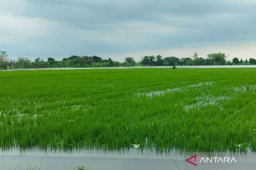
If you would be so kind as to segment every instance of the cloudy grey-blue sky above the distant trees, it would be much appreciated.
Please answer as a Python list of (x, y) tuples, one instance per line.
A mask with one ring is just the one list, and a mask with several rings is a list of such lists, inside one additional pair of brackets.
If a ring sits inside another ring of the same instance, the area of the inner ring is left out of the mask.
[(256, 58), (255, 0), (0, 0), (10, 59), (145, 55)]

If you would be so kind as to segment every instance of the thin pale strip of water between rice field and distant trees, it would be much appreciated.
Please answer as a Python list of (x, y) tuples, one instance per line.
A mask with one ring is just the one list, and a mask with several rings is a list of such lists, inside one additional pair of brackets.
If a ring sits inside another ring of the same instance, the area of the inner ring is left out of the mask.
[[(200, 66), (176, 66), (183, 69), (205, 69), (205, 68), (256, 68), (256, 65), (200, 65)], [(3, 69), (0, 71), (14, 70), (87, 70), (87, 69), (139, 69), (139, 68), (172, 68), (172, 66), (138, 66), (138, 67), (82, 67), (82, 68), (34, 68), (34, 69)]]

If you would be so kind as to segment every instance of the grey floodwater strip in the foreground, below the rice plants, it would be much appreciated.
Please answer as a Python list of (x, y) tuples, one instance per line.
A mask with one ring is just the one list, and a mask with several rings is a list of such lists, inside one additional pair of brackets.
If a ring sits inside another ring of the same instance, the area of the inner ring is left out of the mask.
[[(190, 159), (191, 156), (196, 159)], [(215, 159), (216, 157), (218, 158)], [(188, 159), (197, 166), (189, 163)], [(225, 162), (227, 159), (229, 162)], [(83, 166), (86, 170), (244, 170), (255, 169), (256, 154), (252, 152), (185, 152), (183, 154), (171, 152), (161, 155), (145, 150), (142, 153), (133, 148), (129, 152), (100, 152), (94, 150), (72, 153), (38, 151), (20, 153), (19, 150), (13, 150), (1, 152), (0, 155), (0, 170), (27, 170), (30, 168), (74, 170), (77, 169), (75, 168), (77, 166)]]

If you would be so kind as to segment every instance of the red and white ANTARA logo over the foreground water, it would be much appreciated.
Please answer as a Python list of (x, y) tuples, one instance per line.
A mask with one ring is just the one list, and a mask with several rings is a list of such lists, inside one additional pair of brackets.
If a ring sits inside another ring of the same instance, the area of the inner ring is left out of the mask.
[[(194, 166), (197, 166), (196, 164), (196, 157), (197, 157), (197, 154), (186, 159), (186, 162), (194, 165)], [(192, 160), (192, 161), (191, 161)], [(224, 158), (221, 158), (221, 157), (202, 157), (199, 161), (199, 163), (232, 163), (232, 162), (235, 162), (236, 163), (236, 159), (233, 157), (233, 158), (229, 158), (229, 157), (224, 157)]]

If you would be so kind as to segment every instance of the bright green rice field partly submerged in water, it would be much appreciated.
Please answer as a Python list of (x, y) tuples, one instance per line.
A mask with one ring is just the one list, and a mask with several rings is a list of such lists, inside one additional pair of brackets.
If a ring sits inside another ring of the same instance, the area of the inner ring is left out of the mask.
[(0, 148), (256, 151), (256, 69), (0, 72)]

